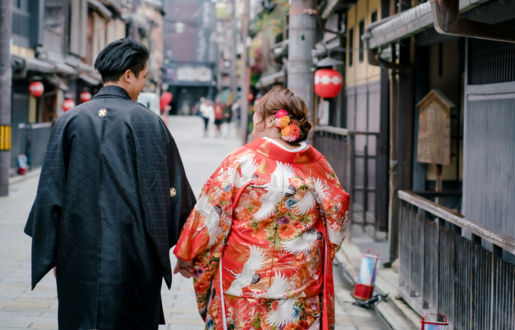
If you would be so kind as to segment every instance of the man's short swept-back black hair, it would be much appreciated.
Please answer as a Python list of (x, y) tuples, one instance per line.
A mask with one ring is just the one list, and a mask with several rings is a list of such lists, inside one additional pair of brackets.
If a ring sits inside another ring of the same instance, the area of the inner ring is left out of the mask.
[(131, 70), (138, 77), (145, 68), (150, 53), (145, 45), (130, 38), (111, 42), (98, 54), (95, 69), (102, 75), (104, 83), (120, 80), (122, 74)]

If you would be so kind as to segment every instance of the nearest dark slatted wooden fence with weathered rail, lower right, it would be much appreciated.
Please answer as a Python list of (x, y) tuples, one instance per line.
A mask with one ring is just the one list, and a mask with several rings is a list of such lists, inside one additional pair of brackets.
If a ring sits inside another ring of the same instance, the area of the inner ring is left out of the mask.
[[(515, 239), (411, 191), (399, 191), (399, 294), (449, 329), (515, 329)], [(484, 242), (493, 244), (492, 251)]]

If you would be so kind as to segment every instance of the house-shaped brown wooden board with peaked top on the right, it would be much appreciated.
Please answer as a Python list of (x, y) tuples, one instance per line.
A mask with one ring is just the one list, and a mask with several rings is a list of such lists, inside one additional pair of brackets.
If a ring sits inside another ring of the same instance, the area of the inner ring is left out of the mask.
[(417, 161), (450, 165), (451, 109), (454, 104), (441, 91), (434, 89), (417, 107), (420, 107)]

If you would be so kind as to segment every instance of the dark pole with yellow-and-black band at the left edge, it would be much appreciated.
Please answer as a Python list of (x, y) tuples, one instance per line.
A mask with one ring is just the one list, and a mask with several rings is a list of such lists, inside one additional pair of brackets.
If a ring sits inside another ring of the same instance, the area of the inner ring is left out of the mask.
[(13, 0), (0, 0), (0, 196), (9, 194), (10, 95), (13, 70), (10, 43), (13, 32)]

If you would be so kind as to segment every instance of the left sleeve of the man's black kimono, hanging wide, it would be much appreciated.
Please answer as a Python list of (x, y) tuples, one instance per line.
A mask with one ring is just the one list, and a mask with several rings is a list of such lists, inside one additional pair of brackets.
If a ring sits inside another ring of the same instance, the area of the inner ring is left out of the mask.
[(50, 134), (38, 192), (24, 229), (24, 233), (32, 237), (32, 289), (57, 263), (58, 228), (66, 182), (65, 125), (66, 121), (61, 118)]

